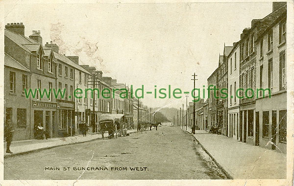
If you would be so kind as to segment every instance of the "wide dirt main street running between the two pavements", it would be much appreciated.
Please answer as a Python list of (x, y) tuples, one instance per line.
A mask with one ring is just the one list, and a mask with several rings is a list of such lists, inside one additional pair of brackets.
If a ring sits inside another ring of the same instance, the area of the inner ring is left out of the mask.
[(223, 178), (194, 137), (173, 126), (4, 159), (5, 180)]

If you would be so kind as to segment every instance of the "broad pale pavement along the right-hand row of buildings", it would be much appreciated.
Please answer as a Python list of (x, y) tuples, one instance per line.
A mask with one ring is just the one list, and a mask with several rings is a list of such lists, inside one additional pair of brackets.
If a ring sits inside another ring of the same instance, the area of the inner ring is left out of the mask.
[[(187, 127), (187, 131), (191, 133), (191, 128)], [(284, 153), (205, 130), (196, 130), (194, 137), (231, 179), (287, 178), (287, 156)]]

